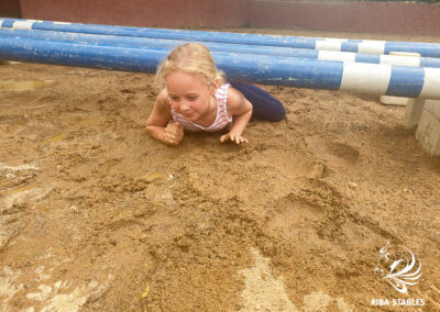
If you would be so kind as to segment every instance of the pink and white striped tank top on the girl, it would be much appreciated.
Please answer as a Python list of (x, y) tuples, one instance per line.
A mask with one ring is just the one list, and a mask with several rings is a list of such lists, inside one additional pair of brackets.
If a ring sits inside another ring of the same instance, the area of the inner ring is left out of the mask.
[(216, 132), (227, 127), (231, 122), (232, 118), (228, 116), (228, 89), (229, 83), (224, 83), (220, 88), (216, 90), (216, 100), (217, 100), (217, 116), (213, 123), (210, 126), (201, 126), (197, 123), (187, 121), (182, 114), (176, 112), (176, 110), (172, 107), (173, 121), (179, 122), (182, 126), (187, 131), (208, 131)]

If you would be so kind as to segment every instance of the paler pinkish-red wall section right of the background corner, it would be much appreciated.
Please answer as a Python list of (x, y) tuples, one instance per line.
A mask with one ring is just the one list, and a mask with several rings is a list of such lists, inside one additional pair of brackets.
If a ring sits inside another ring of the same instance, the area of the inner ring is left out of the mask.
[(440, 35), (440, 5), (260, 0), (249, 2), (248, 23), (261, 27), (436, 36)]

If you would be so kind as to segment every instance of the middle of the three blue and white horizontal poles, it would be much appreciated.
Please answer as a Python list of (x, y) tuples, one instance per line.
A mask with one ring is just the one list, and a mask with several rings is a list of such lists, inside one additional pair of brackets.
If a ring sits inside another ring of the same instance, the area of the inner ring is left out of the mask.
[[(37, 40), (47, 40), (47, 41), (55, 40), (55, 41), (80, 42), (80, 43), (82, 42), (91, 44), (135, 46), (135, 47), (146, 47), (146, 48), (148, 47), (174, 48), (185, 43), (185, 41), (176, 41), (176, 40), (125, 37), (125, 36), (113, 36), (113, 35), (54, 32), (54, 31), (26, 31), (26, 30), (13, 30), (13, 29), (0, 29), (0, 36), (23, 36)], [(358, 63), (371, 63), (371, 64), (388, 64), (388, 65), (400, 65), (400, 66), (420, 66), (420, 67), (440, 68), (440, 58), (435, 58), (435, 57), (373, 55), (373, 54), (352, 53), (352, 52), (316, 51), (308, 48), (226, 44), (226, 43), (211, 43), (211, 42), (199, 42), (199, 43), (205, 44), (210, 51), (227, 52), (227, 53), (231, 52), (240, 54), (301, 57), (301, 58), (312, 58), (320, 60), (341, 60), (341, 62), (358, 62)]]

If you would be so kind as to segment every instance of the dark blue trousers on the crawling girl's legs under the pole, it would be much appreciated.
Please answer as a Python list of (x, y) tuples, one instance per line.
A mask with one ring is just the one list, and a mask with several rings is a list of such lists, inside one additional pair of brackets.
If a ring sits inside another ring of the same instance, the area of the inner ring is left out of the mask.
[(252, 103), (252, 118), (266, 121), (280, 121), (285, 118), (286, 110), (283, 104), (263, 89), (250, 83), (230, 83)]

